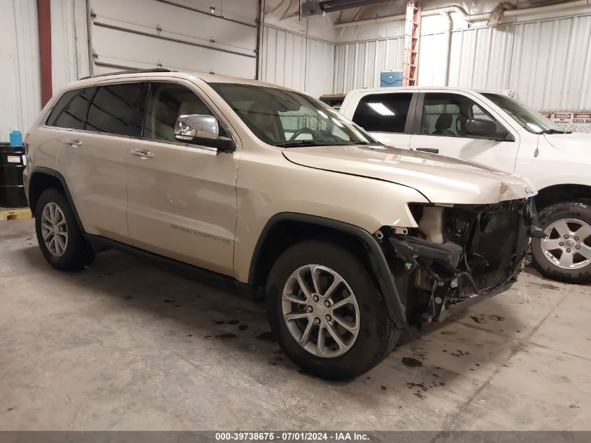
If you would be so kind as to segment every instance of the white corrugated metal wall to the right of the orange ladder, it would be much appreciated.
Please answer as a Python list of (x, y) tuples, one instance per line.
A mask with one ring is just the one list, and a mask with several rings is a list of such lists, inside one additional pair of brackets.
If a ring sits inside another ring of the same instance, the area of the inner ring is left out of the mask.
[[(452, 34), (450, 85), (515, 90), (536, 109), (591, 107), (591, 15)], [(419, 84), (443, 85), (444, 34), (421, 36)]]

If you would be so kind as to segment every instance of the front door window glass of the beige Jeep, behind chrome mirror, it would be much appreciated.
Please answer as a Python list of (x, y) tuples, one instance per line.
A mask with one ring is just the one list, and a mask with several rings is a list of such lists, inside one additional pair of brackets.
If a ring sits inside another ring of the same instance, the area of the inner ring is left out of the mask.
[[(177, 141), (174, 138), (176, 119), (187, 114), (213, 115), (204, 101), (189, 88), (175, 83), (152, 83), (145, 110), (143, 137)], [(221, 125), (220, 136), (228, 136)]]

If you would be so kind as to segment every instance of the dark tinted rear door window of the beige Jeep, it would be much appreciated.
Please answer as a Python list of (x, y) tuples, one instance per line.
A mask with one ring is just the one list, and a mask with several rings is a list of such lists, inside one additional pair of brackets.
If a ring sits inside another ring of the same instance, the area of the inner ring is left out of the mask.
[(141, 116), (146, 89), (146, 83), (100, 86), (90, 104), (85, 129), (108, 134), (141, 136)]

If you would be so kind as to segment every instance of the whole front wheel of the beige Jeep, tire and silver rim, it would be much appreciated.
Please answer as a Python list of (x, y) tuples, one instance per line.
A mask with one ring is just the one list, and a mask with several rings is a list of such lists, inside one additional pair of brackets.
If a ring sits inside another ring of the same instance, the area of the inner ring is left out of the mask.
[(302, 241), (280, 255), (269, 274), (266, 302), (281, 349), (323, 379), (369, 371), (399, 337), (362, 262), (325, 241)]

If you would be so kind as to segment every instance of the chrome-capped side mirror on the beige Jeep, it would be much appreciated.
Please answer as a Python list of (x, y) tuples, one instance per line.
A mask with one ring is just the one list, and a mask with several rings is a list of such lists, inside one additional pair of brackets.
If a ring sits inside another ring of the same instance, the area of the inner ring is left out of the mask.
[(174, 129), (178, 141), (215, 148), (218, 151), (234, 151), (236, 145), (228, 137), (220, 137), (218, 120), (213, 115), (179, 115)]

